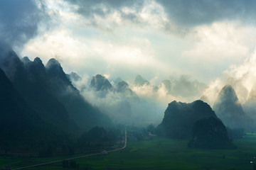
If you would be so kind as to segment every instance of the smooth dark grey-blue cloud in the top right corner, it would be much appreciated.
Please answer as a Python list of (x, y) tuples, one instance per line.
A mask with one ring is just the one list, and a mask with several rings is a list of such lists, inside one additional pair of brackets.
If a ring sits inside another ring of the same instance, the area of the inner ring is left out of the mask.
[(183, 26), (196, 26), (225, 19), (251, 21), (256, 1), (248, 0), (157, 0), (169, 18)]

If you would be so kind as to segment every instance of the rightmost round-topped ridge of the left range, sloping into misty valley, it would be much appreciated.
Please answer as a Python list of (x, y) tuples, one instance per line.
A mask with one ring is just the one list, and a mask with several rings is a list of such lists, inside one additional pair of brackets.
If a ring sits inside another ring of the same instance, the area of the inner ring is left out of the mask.
[(97, 108), (85, 101), (71, 81), (66, 77), (60, 63), (50, 59), (46, 64), (46, 73), (49, 77), (49, 91), (65, 105), (70, 118), (81, 128), (88, 129), (93, 126), (109, 126), (110, 118)]

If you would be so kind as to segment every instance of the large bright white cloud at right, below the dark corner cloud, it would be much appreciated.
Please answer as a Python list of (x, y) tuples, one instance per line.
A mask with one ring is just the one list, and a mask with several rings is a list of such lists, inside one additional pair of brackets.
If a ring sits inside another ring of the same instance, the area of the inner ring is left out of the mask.
[(256, 28), (238, 21), (197, 26), (186, 35), (191, 45), (181, 54), (184, 66), (196, 77), (218, 77), (231, 64), (239, 64), (255, 48)]

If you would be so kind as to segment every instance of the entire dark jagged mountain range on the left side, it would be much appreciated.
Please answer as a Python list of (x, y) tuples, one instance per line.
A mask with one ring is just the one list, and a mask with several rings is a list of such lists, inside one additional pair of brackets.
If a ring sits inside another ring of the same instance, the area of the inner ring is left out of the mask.
[(20, 136), (43, 139), (49, 136), (46, 134), (75, 139), (94, 126), (112, 125), (105, 113), (80, 95), (57, 60), (51, 59), (44, 66), (39, 57), (33, 61), (20, 59), (10, 47), (2, 45), (0, 68), (2, 141), (16, 141), (17, 145), (22, 141), (18, 140)]

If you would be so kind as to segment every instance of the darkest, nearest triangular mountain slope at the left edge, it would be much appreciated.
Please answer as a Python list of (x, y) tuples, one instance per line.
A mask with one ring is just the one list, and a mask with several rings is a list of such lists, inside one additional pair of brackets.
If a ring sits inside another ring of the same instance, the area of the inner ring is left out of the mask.
[[(54, 129), (39, 118), (0, 69), (0, 150), (38, 147), (58, 138)], [(59, 138), (58, 142), (63, 141)]]

